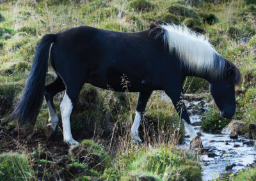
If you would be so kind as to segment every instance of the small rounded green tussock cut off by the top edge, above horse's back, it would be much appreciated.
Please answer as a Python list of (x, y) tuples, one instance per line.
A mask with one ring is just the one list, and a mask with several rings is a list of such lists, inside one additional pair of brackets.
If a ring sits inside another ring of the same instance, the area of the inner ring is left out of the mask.
[(155, 5), (147, 0), (132, 0), (129, 3), (130, 8), (135, 11), (150, 11), (154, 9)]

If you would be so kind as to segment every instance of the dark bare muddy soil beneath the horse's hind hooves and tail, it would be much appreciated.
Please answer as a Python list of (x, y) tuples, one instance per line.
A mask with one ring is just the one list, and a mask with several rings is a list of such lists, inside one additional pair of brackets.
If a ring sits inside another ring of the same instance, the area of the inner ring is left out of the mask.
[(43, 130), (32, 126), (20, 131), (17, 126), (0, 126), (0, 154), (18, 152), (28, 155), (38, 180), (74, 180), (84, 175), (83, 168), (74, 168), (69, 148), (63, 142), (60, 127), (47, 139)]

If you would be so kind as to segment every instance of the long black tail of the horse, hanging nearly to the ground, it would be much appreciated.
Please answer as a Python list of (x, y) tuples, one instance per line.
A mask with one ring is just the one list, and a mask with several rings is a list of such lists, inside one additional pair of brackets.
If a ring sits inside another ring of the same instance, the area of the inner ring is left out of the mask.
[(35, 122), (44, 98), (49, 48), (56, 38), (56, 34), (47, 34), (38, 43), (23, 94), (8, 120), (18, 120), (20, 125)]

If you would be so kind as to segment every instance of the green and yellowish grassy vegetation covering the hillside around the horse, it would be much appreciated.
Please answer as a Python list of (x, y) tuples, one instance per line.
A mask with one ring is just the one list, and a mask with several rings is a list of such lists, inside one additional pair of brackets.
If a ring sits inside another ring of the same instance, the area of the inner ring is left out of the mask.
[[(59, 33), (79, 25), (136, 32), (148, 29), (152, 22), (166, 22), (185, 24), (198, 33), (205, 33), (214, 48), (238, 66), (242, 80), (236, 87), (234, 118), (255, 124), (255, 7), (254, 0), (203, 3), (176, 0), (0, 1), (0, 180), (200, 180), (197, 157), (175, 148), (182, 142), (184, 127), (173, 105), (161, 99), (161, 91), (152, 94), (141, 122), (143, 145), (134, 145), (129, 136), (138, 94), (106, 91), (92, 85), (84, 85), (74, 106), (72, 133), (82, 143), (70, 149), (70, 154), (68, 146), (62, 143), (61, 122), (56, 133), (45, 142), (43, 133), (48, 119), (45, 102), (35, 126), (24, 131), (19, 131), (15, 122), (6, 123), (4, 119), (17, 103), (36, 43), (44, 34)], [(54, 71), (49, 67), (47, 83), (54, 78)], [(188, 77), (184, 90), (196, 94), (207, 92), (205, 99), (211, 99), (207, 82), (200, 78)], [(59, 117), (62, 98), (63, 92), (54, 98)], [(219, 131), (230, 120), (221, 119), (214, 103), (210, 107), (202, 127), (207, 131)], [(27, 155), (20, 154), (22, 152)], [(254, 172), (254, 169), (241, 171), (237, 177), (229, 179), (250, 180), (255, 177)]]

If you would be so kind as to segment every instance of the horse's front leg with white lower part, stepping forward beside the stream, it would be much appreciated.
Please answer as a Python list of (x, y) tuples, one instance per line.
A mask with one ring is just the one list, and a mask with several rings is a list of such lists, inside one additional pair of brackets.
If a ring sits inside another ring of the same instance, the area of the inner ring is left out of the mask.
[(187, 129), (191, 140), (193, 140), (197, 135), (196, 135), (195, 129), (193, 128), (193, 126), (191, 126), (191, 122), (189, 120), (189, 115), (182, 98), (183, 91), (181, 86), (180, 86), (180, 89), (166, 90), (165, 92), (172, 99), (172, 103), (177, 113), (179, 113), (180, 119), (184, 123), (184, 126)]

